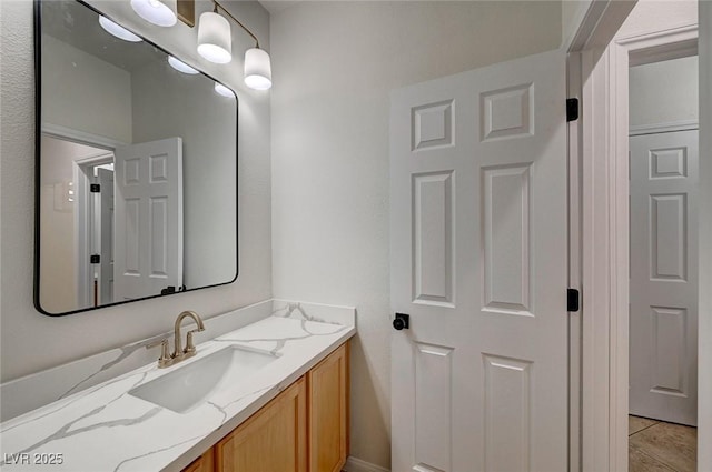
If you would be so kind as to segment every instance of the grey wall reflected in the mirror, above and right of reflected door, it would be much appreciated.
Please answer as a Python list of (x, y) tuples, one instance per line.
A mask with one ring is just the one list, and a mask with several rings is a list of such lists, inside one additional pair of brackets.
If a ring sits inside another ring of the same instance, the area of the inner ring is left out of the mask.
[[(236, 273), (236, 101), (215, 82), (188, 76), (166, 61), (131, 73), (134, 142), (182, 138), (184, 283), (233, 280)], [(249, 248), (243, 248), (249, 251)]]

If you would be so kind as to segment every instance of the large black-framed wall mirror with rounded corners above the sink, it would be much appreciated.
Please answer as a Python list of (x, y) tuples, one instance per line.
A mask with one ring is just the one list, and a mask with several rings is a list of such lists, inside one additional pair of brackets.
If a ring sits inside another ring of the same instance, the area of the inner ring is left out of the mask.
[(234, 281), (235, 93), (80, 1), (36, 0), (34, 34), (38, 310)]

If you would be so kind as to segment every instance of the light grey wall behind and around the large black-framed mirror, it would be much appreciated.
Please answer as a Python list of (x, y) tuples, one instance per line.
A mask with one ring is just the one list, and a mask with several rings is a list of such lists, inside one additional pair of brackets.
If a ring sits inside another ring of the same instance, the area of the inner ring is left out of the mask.
[[(271, 295), (269, 94), (253, 92), (243, 86), (239, 53), (224, 67), (199, 58), (195, 48), (196, 29), (182, 23), (169, 29), (151, 27), (137, 17), (126, 1), (96, 0), (92, 3), (111, 11), (116, 18), (126, 18), (130, 28), (199, 64), (238, 91), (240, 277), (236, 283), (221, 288), (69, 317), (50, 318), (34, 310), (32, 2), (0, 1), (1, 381), (168, 331), (176, 315), (186, 309), (208, 318)], [(202, 10), (210, 8), (208, 2), (198, 2), (198, 6)], [(230, 8), (269, 50), (269, 18), (264, 8), (254, 1), (235, 2)], [(235, 51), (251, 47), (249, 38), (241, 34), (234, 34), (233, 41)]]

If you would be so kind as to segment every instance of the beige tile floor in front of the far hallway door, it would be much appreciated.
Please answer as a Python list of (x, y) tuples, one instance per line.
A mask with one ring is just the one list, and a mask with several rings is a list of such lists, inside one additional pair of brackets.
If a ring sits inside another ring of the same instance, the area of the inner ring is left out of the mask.
[(629, 416), (629, 472), (695, 472), (698, 429)]

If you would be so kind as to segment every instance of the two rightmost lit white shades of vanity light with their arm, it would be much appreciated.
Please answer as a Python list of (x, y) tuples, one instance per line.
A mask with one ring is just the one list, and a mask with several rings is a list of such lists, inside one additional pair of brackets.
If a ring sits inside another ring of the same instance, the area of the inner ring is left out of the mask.
[(245, 52), (245, 84), (255, 90), (267, 90), (271, 87), (271, 64), (269, 54), (259, 48), (259, 40), (253, 32), (240, 23), (229, 11), (216, 0), (212, 0), (212, 12), (200, 16), (198, 23), (198, 53), (210, 62), (224, 64), (233, 59), (230, 24), (218, 12), (222, 10), (255, 40), (255, 48)]

